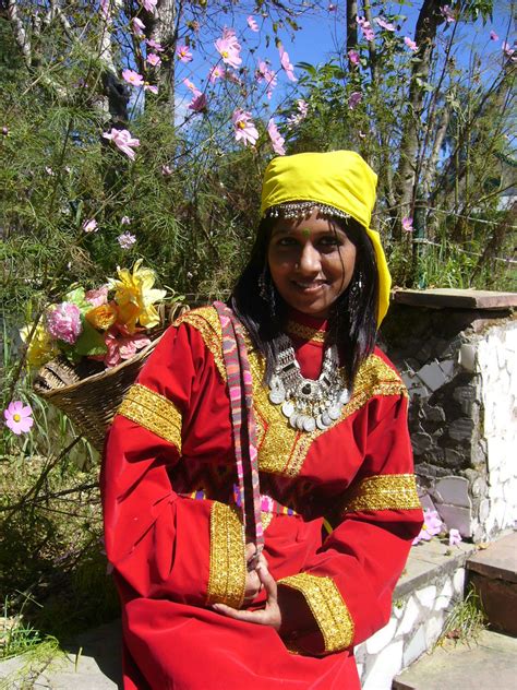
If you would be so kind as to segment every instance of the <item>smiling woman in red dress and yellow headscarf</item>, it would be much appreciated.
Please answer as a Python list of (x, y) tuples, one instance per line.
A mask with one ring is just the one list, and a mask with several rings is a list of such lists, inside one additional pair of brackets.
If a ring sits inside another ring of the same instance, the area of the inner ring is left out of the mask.
[(253, 379), (258, 557), (236, 505), (214, 307), (170, 328), (116, 416), (101, 486), (125, 688), (353, 690), (421, 510), (407, 394), (375, 348), (389, 274), (356, 153), (275, 158), (230, 299)]

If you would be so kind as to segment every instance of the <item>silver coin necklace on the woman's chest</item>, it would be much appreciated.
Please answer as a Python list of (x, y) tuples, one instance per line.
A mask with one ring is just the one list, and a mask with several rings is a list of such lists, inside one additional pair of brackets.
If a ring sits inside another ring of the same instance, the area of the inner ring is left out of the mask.
[(325, 350), (322, 372), (317, 380), (301, 374), (291, 340), (282, 335), (280, 353), (269, 381), (269, 401), (281, 405), (281, 413), (289, 426), (311, 433), (316, 428), (325, 430), (341, 416), (342, 406), (350, 400), (350, 392), (339, 372), (337, 347)]

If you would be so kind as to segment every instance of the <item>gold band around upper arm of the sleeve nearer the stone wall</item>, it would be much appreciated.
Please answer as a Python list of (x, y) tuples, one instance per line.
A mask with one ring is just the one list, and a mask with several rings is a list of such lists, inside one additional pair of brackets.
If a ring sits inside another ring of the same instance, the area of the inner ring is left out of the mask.
[(344, 512), (411, 510), (420, 507), (414, 475), (375, 475), (362, 479), (357, 488), (352, 487)]

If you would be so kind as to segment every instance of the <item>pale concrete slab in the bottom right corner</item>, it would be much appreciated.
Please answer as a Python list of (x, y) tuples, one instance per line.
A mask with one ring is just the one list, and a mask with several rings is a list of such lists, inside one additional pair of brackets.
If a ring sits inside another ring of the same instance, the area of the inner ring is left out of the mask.
[(469, 644), (446, 640), (396, 676), (393, 690), (517, 690), (517, 640), (483, 630)]

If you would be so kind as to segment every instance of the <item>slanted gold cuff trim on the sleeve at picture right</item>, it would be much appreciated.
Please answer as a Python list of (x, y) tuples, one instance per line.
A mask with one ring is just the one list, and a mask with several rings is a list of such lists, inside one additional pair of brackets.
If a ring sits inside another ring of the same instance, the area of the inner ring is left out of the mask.
[(325, 652), (340, 652), (353, 640), (353, 621), (332, 578), (301, 572), (278, 581), (303, 594), (325, 641)]

